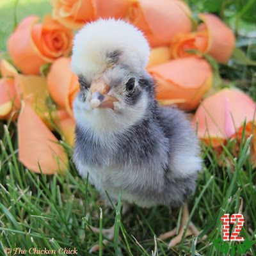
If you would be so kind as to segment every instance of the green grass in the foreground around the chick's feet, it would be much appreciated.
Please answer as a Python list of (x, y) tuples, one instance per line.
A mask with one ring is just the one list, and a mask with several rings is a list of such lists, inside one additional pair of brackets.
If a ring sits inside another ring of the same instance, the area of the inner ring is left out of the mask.
[[(87, 180), (81, 179), (70, 160), (70, 172), (65, 175), (45, 176), (30, 172), (17, 159), (17, 145), (13, 125), (4, 126), (0, 158), (0, 253), (6, 247), (29, 250), (31, 247), (56, 249), (76, 247), (79, 255), (102, 237), (94, 234), (87, 225), (111, 227), (116, 225), (122, 242), (113, 239), (104, 255), (116, 255), (122, 248), (124, 255), (151, 255), (154, 236), (175, 227), (179, 209), (171, 214), (164, 207), (152, 209), (132, 208), (124, 218), (120, 216), (120, 202), (116, 211), (106, 207)], [(246, 222), (241, 236), (253, 240), (256, 236), (256, 173), (248, 159), (250, 141), (241, 147), (237, 159), (226, 148), (223, 159), (227, 166), (220, 168), (211, 148), (204, 148), (204, 172), (199, 175), (195, 195), (191, 198), (191, 220), (207, 234), (207, 240), (196, 242), (193, 237), (184, 239), (179, 246), (167, 249), (164, 241), (156, 239), (158, 255), (221, 255), (212, 241), (220, 237), (220, 217), (224, 213), (238, 212), (243, 198)], [(71, 158), (72, 150), (66, 147)], [(231, 156), (231, 157), (228, 157)], [(102, 220), (99, 219), (100, 207)], [(125, 237), (125, 238), (124, 238)], [(140, 244), (140, 245), (139, 245)], [(255, 249), (255, 248), (253, 248)], [(255, 251), (255, 250), (254, 250)], [(252, 255), (255, 252), (252, 250)]]

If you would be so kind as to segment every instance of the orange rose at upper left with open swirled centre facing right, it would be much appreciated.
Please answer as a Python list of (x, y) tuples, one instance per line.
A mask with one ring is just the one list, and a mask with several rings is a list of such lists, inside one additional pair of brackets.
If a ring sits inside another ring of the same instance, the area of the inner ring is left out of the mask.
[(8, 40), (8, 52), (23, 74), (39, 74), (40, 67), (67, 55), (72, 47), (72, 32), (46, 16), (36, 24), (35, 15), (26, 17)]

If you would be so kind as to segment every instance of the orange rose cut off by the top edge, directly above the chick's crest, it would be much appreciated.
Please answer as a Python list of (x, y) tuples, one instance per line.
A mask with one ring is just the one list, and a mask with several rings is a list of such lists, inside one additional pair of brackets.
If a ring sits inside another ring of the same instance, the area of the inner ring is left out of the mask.
[(54, 19), (72, 29), (79, 29), (86, 21), (99, 17), (122, 18), (128, 8), (128, 0), (51, 0), (51, 3)]

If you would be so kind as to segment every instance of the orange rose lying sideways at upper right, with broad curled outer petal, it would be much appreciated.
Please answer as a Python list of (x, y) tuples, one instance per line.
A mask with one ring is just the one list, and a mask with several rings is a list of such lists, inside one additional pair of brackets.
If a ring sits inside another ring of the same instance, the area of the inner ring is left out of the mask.
[(198, 26), (197, 31), (179, 33), (172, 39), (172, 58), (195, 55), (186, 51), (196, 49), (210, 54), (216, 61), (227, 62), (236, 43), (234, 33), (216, 15), (201, 13), (199, 17), (204, 23)]

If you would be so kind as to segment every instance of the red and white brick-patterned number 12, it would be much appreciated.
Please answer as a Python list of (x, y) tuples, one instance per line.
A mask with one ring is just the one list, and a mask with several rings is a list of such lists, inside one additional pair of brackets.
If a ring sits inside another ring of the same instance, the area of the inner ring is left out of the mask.
[[(242, 214), (232, 214), (229, 218), (229, 214), (224, 214), (220, 220), (223, 222), (222, 229), (223, 229), (223, 241), (244, 241), (244, 237), (239, 237), (239, 232), (244, 225), (244, 216)], [(236, 223), (237, 220), (237, 223)], [(231, 236), (229, 237), (229, 223), (236, 224), (234, 228), (234, 232), (232, 232)]]

